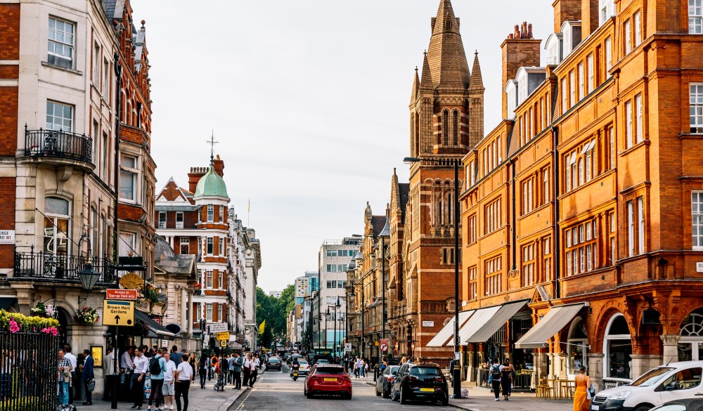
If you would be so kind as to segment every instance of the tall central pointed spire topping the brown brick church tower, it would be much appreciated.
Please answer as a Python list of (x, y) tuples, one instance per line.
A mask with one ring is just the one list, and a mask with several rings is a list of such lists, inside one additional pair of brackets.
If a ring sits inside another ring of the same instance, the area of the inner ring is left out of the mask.
[[(432, 20), (429, 49), (434, 84), (441, 88), (465, 89), (469, 84), (469, 65), (450, 0), (440, 0), (437, 18)], [(423, 75), (425, 73), (423, 72)]]

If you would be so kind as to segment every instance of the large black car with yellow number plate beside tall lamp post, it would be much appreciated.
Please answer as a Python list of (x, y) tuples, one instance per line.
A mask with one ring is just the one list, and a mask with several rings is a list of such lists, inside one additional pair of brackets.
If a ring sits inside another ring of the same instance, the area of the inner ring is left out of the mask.
[(449, 405), (449, 384), (437, 364), (403, 364), (393, 379), (391, 399), (437, 401)]

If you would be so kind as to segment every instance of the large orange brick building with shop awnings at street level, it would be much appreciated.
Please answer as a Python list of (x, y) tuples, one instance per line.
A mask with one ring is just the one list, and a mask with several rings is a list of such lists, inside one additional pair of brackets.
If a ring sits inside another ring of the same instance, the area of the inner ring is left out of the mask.
[(470, 379), (506, 355), (539, 377), (586, 365), (602, 387), (699, 359), (702, 17), (673, 0), (553, 7), (548, 65), (515, 27), (504, 119), (463, 159), (463, 360)]

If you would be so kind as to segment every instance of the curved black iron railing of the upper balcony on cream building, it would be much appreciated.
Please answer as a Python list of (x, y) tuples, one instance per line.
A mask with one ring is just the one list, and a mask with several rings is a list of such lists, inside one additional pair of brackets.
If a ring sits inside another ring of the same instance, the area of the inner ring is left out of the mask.
[(92, 163), (93, 138), (70, 131), (27, 130), (25, 124), (25, 157), (65, 158)]

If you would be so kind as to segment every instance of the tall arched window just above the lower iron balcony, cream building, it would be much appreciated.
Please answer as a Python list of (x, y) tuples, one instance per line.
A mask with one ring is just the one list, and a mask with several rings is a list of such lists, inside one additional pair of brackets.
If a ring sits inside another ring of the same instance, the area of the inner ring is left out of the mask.
[(58, 197), (44, 200), (44, 252), (67, 255), (70, 252), (70, 203)]

